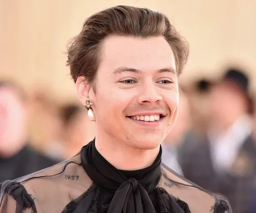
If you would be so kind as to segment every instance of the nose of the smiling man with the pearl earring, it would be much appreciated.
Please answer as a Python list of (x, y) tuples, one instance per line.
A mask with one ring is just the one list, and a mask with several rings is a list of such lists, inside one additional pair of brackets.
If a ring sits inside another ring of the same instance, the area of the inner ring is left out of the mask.
[(137, 98), (137, 102), (139, 104), (155, 103), (159, 100), (162, 100), (162, 96), (159, 94), (156, 86), (153, 83), (143, 85), (141, 88), (141, 93)]

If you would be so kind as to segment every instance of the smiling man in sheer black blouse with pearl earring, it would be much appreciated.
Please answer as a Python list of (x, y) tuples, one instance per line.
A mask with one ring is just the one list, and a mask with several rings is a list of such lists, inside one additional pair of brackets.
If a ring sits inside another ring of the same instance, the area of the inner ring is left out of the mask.
[(71, 160), (4, 182), (2, 212), (231, 212), (161, 165), (187, 57), (161, 13), (116, 6), (88, 18), (68, 65), (96, 137)]

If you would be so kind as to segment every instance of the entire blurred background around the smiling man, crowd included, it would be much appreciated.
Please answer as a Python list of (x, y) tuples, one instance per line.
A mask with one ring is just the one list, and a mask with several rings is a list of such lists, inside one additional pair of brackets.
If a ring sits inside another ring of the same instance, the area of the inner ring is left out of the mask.
[[(69, 159), (95, 137), (66, 45), (88, 16), (115, 5), (168, 15), (190, 44), (164, 164), (227, 197), (234, 213), (256, 212), (256, 0), (0, 0), (0, 182)], [(211, 84), (229, 66), (245, 73), (250, 94), (234, 73)]]

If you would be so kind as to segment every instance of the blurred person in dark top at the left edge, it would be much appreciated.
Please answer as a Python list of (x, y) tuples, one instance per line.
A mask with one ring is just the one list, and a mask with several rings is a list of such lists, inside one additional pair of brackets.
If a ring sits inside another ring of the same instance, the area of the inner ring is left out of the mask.
[(0, 82), (0, 182), (57, 163), (27, 145), (28, 114), (22, 89), (12, 82)]

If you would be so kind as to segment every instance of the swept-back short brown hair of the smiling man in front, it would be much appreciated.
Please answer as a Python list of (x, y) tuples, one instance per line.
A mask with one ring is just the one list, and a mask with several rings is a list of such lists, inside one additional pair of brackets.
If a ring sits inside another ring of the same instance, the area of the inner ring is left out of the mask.
[(188, 43), (165, 15), (147, 8), (115, 6), (89, 17), (80, 34), (68, 45), (67, 66), (75, 82), (78, 76), (84, 76), (89, 84), (93, 83), (100, 62), (101, 43), (108, 35), (164, 36), (173, 50), (178, 75), (188, 59)]

